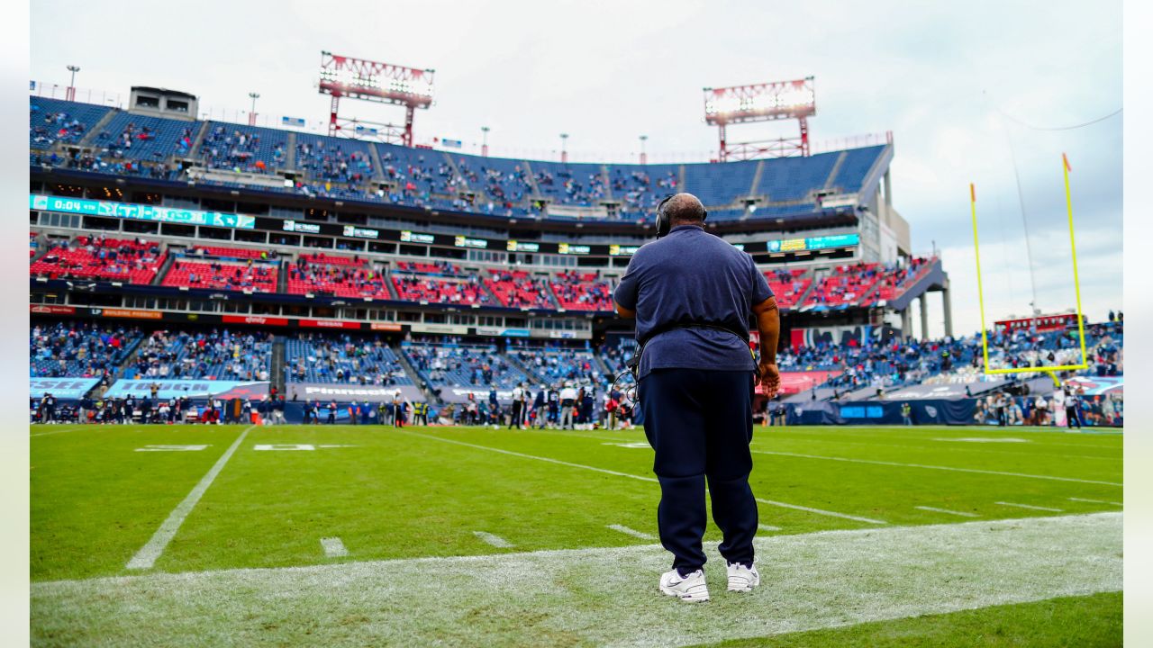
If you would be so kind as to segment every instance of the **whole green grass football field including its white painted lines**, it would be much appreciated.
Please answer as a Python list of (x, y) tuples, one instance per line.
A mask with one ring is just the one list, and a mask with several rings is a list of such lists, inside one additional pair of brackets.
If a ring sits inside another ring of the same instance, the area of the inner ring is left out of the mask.
[(760, 428), (762, 587), (710, 527), (702, 605), (640, 431), (31, 435), (39, 646), (1121, 645), (1120, 434)]

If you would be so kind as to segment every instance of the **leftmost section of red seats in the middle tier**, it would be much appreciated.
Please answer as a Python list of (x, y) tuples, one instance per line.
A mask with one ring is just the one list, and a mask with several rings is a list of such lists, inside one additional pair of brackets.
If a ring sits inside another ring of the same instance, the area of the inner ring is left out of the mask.
[(127, 284), (150, 284), (164, 264), (160, 243), (143, 239), (112, 239), (104, 235), (76, 236), (54, 242), (33, 261), (33, 277), (52, 279), (107, 279)]

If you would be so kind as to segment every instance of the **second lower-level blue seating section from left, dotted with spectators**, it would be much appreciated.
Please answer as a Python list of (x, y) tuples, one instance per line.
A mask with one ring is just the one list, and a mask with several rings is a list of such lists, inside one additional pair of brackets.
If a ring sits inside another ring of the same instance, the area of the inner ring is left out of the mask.
[(155, 331), (140, 345), (126, 378), (267, 380), (271, 333)]

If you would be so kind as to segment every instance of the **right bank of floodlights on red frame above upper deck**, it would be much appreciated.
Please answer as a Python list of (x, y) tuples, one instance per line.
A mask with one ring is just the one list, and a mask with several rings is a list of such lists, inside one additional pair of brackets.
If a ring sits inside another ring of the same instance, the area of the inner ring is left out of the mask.
[[(732, 88), (704, 89), (704, 122), (716, 126), (721, 140), (721, 161), (756, 158), (808, 156), (808, 118), (816, 114), (813, 77), (777, 81)], [(730, 143), (725, 127), (730, 123), (796, 119), (800, 136)]]

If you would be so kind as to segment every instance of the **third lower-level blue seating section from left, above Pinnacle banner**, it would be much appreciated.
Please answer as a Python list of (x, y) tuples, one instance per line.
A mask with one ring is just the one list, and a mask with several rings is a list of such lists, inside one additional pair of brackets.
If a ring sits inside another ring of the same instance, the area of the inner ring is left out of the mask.
[(289, 338), (285, 375), (296, 383), (413, 384), (387, 342), (348, 334), (309, 333)]

